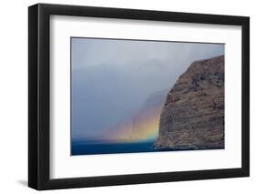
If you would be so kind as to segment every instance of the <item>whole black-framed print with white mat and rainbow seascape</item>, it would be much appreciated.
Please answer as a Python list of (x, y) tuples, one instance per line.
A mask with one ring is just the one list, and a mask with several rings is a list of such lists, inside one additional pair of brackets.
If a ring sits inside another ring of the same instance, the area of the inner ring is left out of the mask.
[(250, 19), (28, 8), (28, 186), (250, 174)]

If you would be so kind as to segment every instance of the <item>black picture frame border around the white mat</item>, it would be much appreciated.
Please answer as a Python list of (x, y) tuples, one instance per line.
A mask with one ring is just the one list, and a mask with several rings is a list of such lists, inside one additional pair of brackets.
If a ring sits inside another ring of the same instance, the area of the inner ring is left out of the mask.
[[(241, 26), (242, 123), (241, 168), (206, 169), (118, 176), (50, 179), (49, 16), (76, 15), (133, 20)], [(28, 186), (69, 189), (111, 185), (250, 176), (250, 18), (78, 5), (37, 4), (28, 7)]]

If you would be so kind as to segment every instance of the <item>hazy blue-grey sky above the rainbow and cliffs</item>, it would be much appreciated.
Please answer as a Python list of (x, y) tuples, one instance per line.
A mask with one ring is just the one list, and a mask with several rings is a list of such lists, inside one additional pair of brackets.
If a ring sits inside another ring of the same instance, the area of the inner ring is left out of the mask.
[(71, 38), (72, 138), (100, 137), (224, 45)]

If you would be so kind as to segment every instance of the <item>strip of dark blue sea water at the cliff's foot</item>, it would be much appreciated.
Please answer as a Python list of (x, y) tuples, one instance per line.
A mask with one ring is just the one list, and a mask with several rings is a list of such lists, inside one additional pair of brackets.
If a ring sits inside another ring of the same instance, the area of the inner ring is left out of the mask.
[(154, 141), (138, 143), (109, 143), (73, 141), (71, 155), (116, 154), (167, 151), (173, 149), (154, 148)]

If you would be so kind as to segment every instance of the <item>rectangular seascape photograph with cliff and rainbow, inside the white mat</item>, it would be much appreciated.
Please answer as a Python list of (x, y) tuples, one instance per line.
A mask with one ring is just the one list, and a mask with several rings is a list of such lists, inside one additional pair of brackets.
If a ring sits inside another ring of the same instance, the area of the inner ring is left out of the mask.
[(70, 37), (71, 156), (225, 148), (225, 44)]

